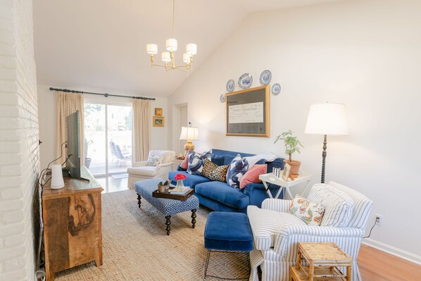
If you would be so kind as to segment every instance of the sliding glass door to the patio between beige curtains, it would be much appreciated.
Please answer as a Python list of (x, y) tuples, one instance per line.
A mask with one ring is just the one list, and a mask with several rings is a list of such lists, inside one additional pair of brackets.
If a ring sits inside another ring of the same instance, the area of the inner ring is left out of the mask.
[(127, 173), (132, 164), (132, 106), (84, 104), (85, 165), (92, 175)]

